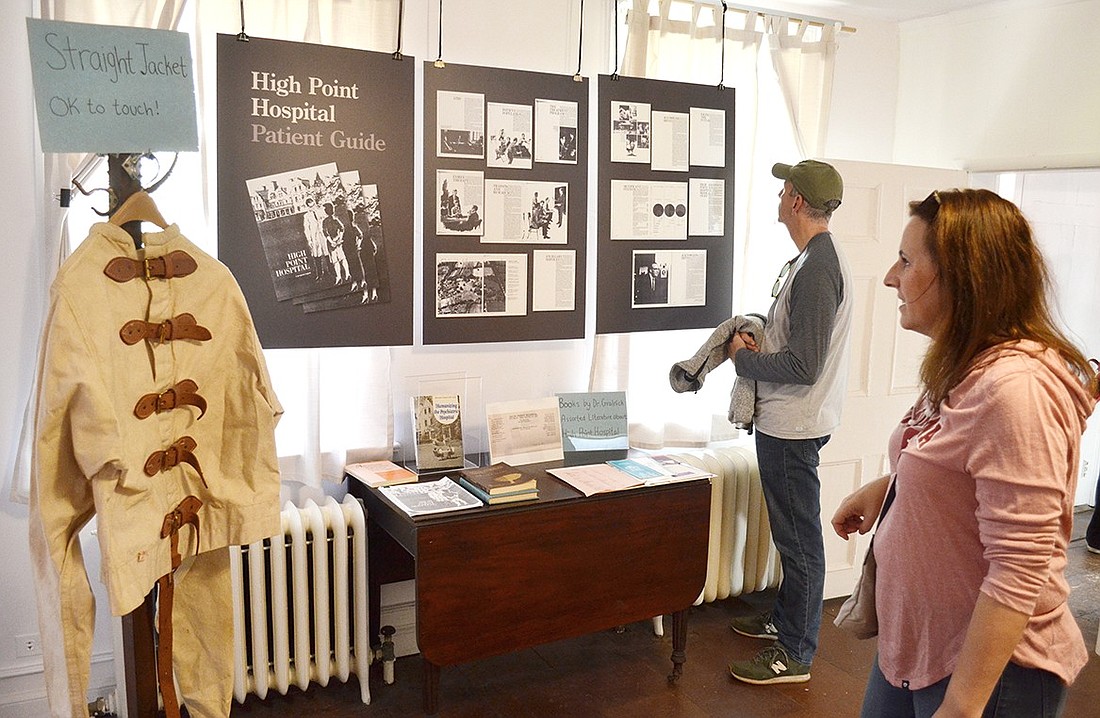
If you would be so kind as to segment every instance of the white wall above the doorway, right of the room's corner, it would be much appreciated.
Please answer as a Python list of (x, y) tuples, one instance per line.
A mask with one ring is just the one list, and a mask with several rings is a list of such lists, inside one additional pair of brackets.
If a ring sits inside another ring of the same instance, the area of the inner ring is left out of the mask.
[(1100, 0), (998, 2), (902, 23), (894, 161), (1100, 166)]

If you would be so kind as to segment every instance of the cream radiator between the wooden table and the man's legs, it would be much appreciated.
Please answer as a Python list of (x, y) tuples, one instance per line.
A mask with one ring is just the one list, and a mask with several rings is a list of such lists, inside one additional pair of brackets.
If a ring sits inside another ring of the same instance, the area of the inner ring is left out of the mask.
[(675, 456), (714, 474), (706, 583), (696, 605), (778, 586), (779, 552), (771, 541), (756, 453), (730, 446)]

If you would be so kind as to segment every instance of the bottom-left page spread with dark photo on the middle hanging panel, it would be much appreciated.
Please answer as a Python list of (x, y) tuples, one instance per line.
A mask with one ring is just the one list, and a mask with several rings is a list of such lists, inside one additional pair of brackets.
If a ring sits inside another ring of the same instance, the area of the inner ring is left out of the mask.
[(437, 255), (436, 317), (526, 313), (526, 254)]

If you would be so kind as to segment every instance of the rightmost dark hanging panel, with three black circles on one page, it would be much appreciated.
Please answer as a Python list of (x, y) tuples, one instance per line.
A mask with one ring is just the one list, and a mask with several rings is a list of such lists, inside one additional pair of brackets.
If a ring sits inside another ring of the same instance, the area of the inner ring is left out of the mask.
[(596, 332), (730, 316), (733, 89), (600, 77)]

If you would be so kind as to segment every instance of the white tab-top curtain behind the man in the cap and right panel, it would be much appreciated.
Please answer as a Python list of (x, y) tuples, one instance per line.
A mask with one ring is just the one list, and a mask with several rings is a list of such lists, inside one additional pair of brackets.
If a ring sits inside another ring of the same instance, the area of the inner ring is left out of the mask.
[[(723, 33), (721, 4), (705, 0), (627, 0), (622, 9), (623, 75), (722, 82), (737, 93), (729, 291), (735, 314), (763, 313), (776, 273), (796, 251), (777, 223), (780, 185), (771, 166), (823, 150), (837, 29), (811, 31), (804, 22), (738, 10), (726, 13)], [(627, 393), (631, 445), (700, 446), (736, 438), (726, 420), (730, 364), (713, 372), (696, 395), (674, 394), (667, 379), (672, 364), (694, 354), (710, 332), (597, 336), (591, 389)]]

